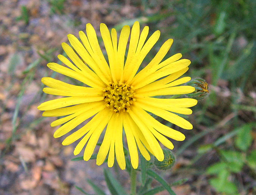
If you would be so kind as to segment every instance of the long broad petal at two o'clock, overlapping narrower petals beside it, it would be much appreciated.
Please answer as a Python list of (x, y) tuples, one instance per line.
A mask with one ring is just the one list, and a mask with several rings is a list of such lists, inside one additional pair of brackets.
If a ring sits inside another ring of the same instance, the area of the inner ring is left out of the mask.
[(167, 75), (170, 75), (174, 72), (178, 72), (181, 69), (184, 69), (185, 67), (190, 65), (190, 60), (188, 59), (181, 59), (176, 62), (172, 62), (171, 64), (164, 66), (163, 68), (159, 69), (158, 71), (154, 72), (153, 74), (150, 74), (147, 78), (145, 78), (143, 81), (134, 84), (134, 89), (141, 88), (147, 84), (150, 84), (153, 81), (156, 81), (159, 78), (165, 77)]

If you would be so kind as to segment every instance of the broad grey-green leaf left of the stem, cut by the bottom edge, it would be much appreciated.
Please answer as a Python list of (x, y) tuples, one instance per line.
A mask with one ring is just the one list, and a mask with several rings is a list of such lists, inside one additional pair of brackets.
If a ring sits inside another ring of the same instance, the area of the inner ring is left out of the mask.
[(112, 195), (126, 195), (124, 188), (121, 184), (112, 176), (109, 169), (104, 169), (105, 181), (107, 187)]

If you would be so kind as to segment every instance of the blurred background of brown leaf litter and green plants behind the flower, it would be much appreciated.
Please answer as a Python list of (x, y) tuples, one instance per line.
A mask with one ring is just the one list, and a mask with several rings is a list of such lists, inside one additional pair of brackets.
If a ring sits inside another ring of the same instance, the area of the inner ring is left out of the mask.
[[(160, 174), (184, 179), (173, 186), (180, 195), (256, 194), (255, 0), (2, 0), (0, 11), (0, 194), (82, 194), (76, 185), (93, 194), (92, 182), (109, 193), (102, 167), (71, 161), (74, 146), (53, 139), (53, 118), (37, 110), (52, 98), (41, 78), (69, 81), (46, 67), (67, 34), (86, 23), (120, 32), (135, 21), (161, 31), (143, 65), (172, 38), (167, 56), (182, 53), (192, 62), (187, 75), (209, 83), (187, 117), (194, 129), (180, 129), (186, 139), (174, 143), (176, 164)], [(128, 190), (128, 174), (113, 171)]]

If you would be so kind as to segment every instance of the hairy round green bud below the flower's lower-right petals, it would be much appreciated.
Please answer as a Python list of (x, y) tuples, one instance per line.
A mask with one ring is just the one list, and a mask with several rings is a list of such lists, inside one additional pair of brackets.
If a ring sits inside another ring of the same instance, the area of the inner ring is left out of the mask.
[(171, 150), (168, 150), (168, 149), (164, 149), (163, 154), (165, 155), (165, 158), (163, 159), (163, 161), (158, 161), (155, 157), (154, 165), (156, 166), (157, 169), (160, 169), (160, 170), (171, 169), (175, 163), (174, 154), (171, 152)]

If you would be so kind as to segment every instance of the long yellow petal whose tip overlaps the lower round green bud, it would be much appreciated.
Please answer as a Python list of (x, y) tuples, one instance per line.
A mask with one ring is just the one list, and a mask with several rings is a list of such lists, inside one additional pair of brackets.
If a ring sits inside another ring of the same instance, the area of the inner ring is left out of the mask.
[(129, 115), (140, 128), (145, 139), (149, 143), (149, 146), (152, 149), (154, 156), (156, 156), (157, 160), (162, 161), (164, 159), (163, 150), (157, 142), (156, 138), (148, 129), (147, 125), (141, 121), (141, 119), (132, 111), (132, 109), (129, 110)]

